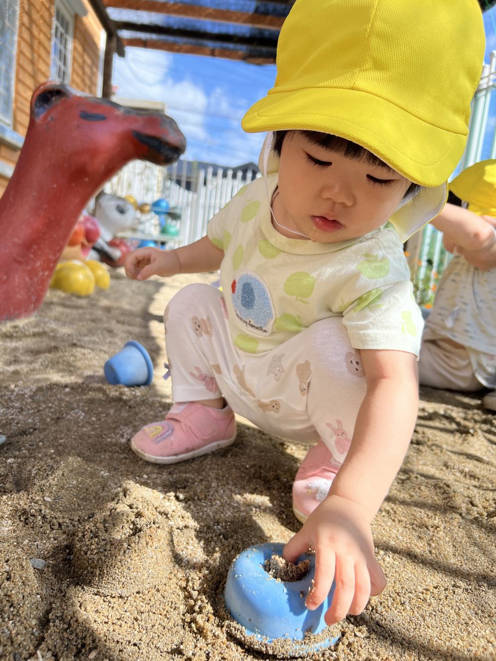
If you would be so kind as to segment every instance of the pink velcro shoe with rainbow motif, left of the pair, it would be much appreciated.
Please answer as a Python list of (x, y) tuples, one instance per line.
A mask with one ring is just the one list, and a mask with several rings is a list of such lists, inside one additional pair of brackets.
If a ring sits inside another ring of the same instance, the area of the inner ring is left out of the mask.
[(145, 461), (179, 463), (229, 446), (235, 438), (231, 407), (189, 402), (173, 405), (165, 420), (144, 426), (131, 439), (131, 447)]

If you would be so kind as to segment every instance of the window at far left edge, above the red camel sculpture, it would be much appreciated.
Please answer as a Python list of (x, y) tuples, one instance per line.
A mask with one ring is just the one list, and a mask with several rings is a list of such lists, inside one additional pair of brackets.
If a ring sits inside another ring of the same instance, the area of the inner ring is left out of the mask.
[(12, 126), (19, 0), (0, 1), (0, 122)]

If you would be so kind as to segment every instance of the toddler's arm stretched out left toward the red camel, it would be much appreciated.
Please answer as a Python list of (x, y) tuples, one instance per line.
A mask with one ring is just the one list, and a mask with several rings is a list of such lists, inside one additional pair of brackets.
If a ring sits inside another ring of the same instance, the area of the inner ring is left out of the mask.
[(175, 276), (178, 273), (216, 271), (224, 258), (224, 251), (208, 237), (175, 250), (138, 248), (126, 256), (126, 276), (132, 280), (146, 280), (150, 276)]

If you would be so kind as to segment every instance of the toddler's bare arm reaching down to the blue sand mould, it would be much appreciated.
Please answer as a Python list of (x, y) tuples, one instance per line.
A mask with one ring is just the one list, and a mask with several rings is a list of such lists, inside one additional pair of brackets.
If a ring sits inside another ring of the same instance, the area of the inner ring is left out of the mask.
[(294, 561), (315, 550), (315, 585), (308, 607), (336, 589), (325, 615), (331, 625), (347, 613), (360, 613), (386, 580), (374, 555), (370, 522), (401, 466), (418, 407), (417, 361), (401, 351), (361, 350), (367, 391), (358, 412), (349, 453), (329, 494), (284, 548)]

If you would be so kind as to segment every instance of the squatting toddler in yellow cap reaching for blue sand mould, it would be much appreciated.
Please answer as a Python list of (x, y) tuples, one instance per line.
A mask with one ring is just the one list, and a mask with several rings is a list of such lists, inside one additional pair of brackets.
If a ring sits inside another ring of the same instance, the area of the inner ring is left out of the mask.
[(315, 443), (284, 557), (315, 550), (310, 609), (335, 579), (328, 624), (385, 586), (370, 522), (415, 424), (423, 326), (402, 242), (444, 205), (483, 51), (476, 0), (296, 0), (274, 87), (243, 118), (269, 132), (263, 178), (200, 241), (126, 259), (138, 280), (220, 268), (222, 282), (167, 306), (175, 405), (132, 448), (167, 464), (228, 446), (233, 410)]

